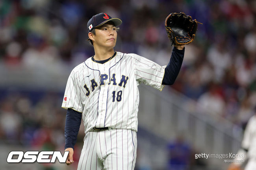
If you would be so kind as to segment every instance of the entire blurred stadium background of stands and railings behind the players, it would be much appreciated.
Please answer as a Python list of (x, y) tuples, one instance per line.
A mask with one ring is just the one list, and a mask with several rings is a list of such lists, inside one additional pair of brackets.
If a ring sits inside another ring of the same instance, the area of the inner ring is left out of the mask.
[[(75, 170), (74, 165), (8, 164), (12, 150), (64, 149), (65, 85), (74, 66), (94, 54), (86, 24), (104, 12), (123, 23), (116, 51), (166, 65), (164, 20), (184, 12), (203, 25), (186, 46), (180, 74), (162, 92), (140, 89), (136, 170), (225, 170), (256, 104), (255, 0), (1, 0), (1, 170)], [(182, 166), (178, 166), (182, 165)]]

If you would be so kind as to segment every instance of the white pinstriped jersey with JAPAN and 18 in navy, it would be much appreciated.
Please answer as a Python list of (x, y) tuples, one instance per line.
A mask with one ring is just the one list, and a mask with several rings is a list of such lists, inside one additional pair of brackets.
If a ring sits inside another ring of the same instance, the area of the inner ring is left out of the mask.
[(117, 52), (100, 64), (88, 58), (70, 73), (62, 108), (82, 113), (85, 133), (111, 127), (137, 132), (140, 82), (162, 90), (166, 66), (136, 54)]

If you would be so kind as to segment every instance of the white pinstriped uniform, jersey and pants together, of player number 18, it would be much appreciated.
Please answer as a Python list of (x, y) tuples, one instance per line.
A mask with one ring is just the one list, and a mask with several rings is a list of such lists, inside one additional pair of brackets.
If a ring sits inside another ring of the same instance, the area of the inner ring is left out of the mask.
[[(85, 138), (78, 170), (133, 170), (140, 82), (162, 90), (165, 66), (117, 52), (104, 64), (88, 58), (67, 81), (62, 107), (82, 113)], [(105, 78), (108, 76), (108, 79)], [(101, 83), (103, 78), (104, 83)], [(93, 127), (109, 127), (97, 132)]]

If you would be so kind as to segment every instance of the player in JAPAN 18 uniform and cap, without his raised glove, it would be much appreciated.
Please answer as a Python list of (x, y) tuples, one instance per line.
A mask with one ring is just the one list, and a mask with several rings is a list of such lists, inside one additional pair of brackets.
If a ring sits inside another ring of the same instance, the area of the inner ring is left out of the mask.
[(70, 73), (62, 108), (67, 109), (65, 151), (73, 161), (81, 119), (85, 126), (78, 170), (134, 170), (140, 82), (162, 90), (176, 79), (184, 45), (173, 48), (170, 62), (160, 66), (136, 54), (114, 51), (119, 18), (106, 13), (87, 23), (95, 55)]

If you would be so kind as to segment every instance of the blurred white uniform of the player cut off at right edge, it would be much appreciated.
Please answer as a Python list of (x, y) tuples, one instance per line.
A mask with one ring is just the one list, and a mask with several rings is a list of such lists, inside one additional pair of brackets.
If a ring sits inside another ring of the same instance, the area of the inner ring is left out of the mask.
[(245, 152), (241, 149), (237, 153), (244, 154), (245, 159), (249, 159), (245, 170), (254, 170), (256, 167), (256, 115), (252, 116), (247, 123), (241, 146), (248, 150)]

